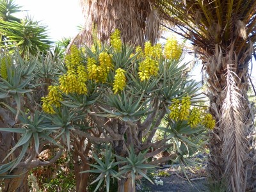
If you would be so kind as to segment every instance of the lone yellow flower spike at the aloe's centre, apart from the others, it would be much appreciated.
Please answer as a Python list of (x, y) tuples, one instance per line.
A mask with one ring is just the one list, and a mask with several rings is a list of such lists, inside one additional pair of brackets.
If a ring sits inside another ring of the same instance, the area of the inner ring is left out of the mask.
[(122, 68), (116, 69), (115, 80), (113, 83), (113, 91), (116, 94), (119, 90), (124, 90), (125, 87), (125, 70)]

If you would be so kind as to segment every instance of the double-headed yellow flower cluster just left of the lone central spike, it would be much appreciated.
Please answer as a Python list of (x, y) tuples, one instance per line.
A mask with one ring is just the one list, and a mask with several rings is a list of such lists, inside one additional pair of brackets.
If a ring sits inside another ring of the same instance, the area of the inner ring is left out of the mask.
[(96, 82), (106, 82), (109, 70), (113, 69), (112, 56), (107, 52), (100, 52), (99, 65), (95, 58), (87, 58), (88, 79)]

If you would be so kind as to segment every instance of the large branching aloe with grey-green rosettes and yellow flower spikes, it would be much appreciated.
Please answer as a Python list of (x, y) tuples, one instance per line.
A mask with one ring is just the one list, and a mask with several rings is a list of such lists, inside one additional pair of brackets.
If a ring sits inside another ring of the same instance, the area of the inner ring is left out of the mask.
[[(1, 110), (12, 122), (1, 125), (0, 131), (14, 132), (17, 140), (3, 158), (2, 177), (29, 162), (26, 168), (51, 164), (67, 149), (81, 159), (85, 169), (81, 174), (89, 172), (87, 164), (96, 168), (90, 172), (100, 173), (95, 191), (103, 182), (108, 191), (111, 177), (118, 180), (118, 191), (127, 191), (125, 186), (132, 190), (136, 180), (148, 179), (147, 170), (157, 164), (189, 163), (189, 157), (202, 150), (200, 141), (207, 139), (210, 124), (205, 123), (207, 112), (193, 106), (200, 99), (197, 83), (187, 80), (186, 63), (166, 58), (170, 45), (163, 52), (161, 45), (147, 42), (142, 50), (122, 45), (118, 35), (115, 38), (111, 45), (98, 41), (81, 49), (72, 45), (64, 64), (51, 54), (29, 61), (19, 52), (12, 56), (15, 62), (7, 79), (0, 79)], [(166, 124), (161, 124), (163, 120)], [(209, 116), (207, 120), (214, 125)], [(164, 136), (155, 139), (159, 129)], [(105, 161), (93, 154), (92, 161), (98, 164), (90, 163), (90, 146), (102, 143), (112, 145), (104, 149)], [(50, 145), (60, 152), (47, 163), (38, 161), (36, 155)], [(166, 148), (170, 156), (152, 161)]]

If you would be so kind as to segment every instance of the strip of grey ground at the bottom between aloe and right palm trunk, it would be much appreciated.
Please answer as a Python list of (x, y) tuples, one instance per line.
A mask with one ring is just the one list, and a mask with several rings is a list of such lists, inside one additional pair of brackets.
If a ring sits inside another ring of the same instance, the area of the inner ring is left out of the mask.
[[(156, 172), (152, 172), (150, 179), (155, 184), (151, 184), (147, 180), (137, 184), (137, 191), (143, 192), (196, 192), (196, 191), (209, 191), (207, 186), (207, 179), (205, 177), (205, 162), (196, 166), (183, 166), (182, 170), (179, 164), (174, 164), (170, 167), (163, 165)], [(189, 178), (190, 182), (186, 178)], [(161, 185), (160, 180), (163, 181)], [(157, 185), (156, 183), (159, 182)]]

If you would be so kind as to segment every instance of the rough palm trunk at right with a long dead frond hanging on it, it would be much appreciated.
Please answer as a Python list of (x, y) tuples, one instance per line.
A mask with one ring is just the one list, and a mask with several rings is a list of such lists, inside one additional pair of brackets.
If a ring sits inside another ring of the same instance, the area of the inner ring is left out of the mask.
[(255, 190), (255, 151), (249, 150), (253, 117), (247, 96), (248, 72), (239, 69), (232, 50), (225, 51), (221, 63), (214, 57), (206, 67), (210, 110), (216, 119), (216, 128), (210, 133), (209, 181), (216, 190), (221, 185), (225, 191)]

